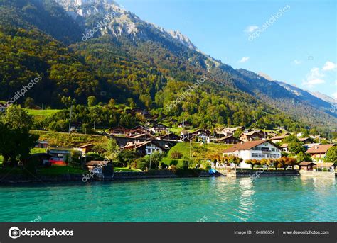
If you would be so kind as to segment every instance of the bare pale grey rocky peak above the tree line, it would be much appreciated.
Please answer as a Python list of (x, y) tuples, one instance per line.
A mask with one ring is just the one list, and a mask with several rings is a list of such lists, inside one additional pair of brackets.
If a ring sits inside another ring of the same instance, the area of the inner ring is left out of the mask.
[(107, 33), (120, 37), (124, 36), (136, 40), (151, 40), (154, 35), (159, 35), (169, 41), (175, 41), (186, 47), (197, 50), (191, 40), (186, 35), (181, 34), (176, 30), (167, 31), (164, 28), (155, 26), (152, 23), (142, 21), (134, 13), (122, 9), (119, 4), (112, 0), (55, 0), (63, 6), (65, 11), (76, 19), (82, 25), (85, 25), (87, 30), (95, 26), (94, 19), (104, 18), (104, 16), (113, 15), (114, 18), (107, 24), (102, 26), (100, 33)]

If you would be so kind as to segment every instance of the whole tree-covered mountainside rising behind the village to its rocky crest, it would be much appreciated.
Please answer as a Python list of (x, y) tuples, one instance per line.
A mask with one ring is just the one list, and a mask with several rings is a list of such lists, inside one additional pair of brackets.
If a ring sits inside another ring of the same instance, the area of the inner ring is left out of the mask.
[[(40, 75), (41, 81), (17, 103), (33, 98), (36, 104), (69, 109), (71, 105), (86, 105), (88, 97), (94, 96), (102, 106), (113, 99), (153, 114), (189, 120), (196, 127), (284, 126), (299, 130), (319, 125), (336, 129), (332, 114), (295, 97), (277, 82), (232, 69), (133, 13), (114, 5), (109, 8), (73, 19), (52, 1), (0, 0), (0, 100), (7, 101)], [(116, 13), (112, 23), (90, 40), (78, 39), (85, 28), (93, 28), (95, 20), (111, 11)], [(193, 95), (166, 110), (201, 77), (206, 81)], [(321, 107), (328, 108), (328, 103), (321, 103)], [(103, 119), (104, 125), (117, 125), (124, 111), (119, 115), (105, 112), (110, 118)], [(65, 120), (67, 111), (59, 113), (60, 117)]]

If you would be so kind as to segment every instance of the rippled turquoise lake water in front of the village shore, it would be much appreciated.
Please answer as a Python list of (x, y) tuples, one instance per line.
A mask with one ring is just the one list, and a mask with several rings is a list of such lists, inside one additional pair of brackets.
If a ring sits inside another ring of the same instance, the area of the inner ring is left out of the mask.
[(336, 179), (139, 179), (1, 186), (1, 222), (337, 222)]

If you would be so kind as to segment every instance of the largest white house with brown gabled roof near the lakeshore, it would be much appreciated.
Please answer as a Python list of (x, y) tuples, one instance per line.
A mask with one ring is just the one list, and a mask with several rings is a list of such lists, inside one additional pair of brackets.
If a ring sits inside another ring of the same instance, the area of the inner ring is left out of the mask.
[(243, 159), (240, 167), (250, 168), (250, 165), (245, 163), (247, 159), (278, 159), (281, 157), (281, 149), (269, 140), (255, 140), (238, 143), (223, 151), (224, 157), (230, 155)]

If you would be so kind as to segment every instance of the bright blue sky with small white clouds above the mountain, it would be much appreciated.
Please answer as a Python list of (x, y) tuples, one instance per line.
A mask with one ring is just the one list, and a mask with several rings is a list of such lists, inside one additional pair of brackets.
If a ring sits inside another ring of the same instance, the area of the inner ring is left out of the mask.
[(234, 68), (337, 98), (336, 1), (117, 2), (145, 21), (179, 30), (199, 50)]

